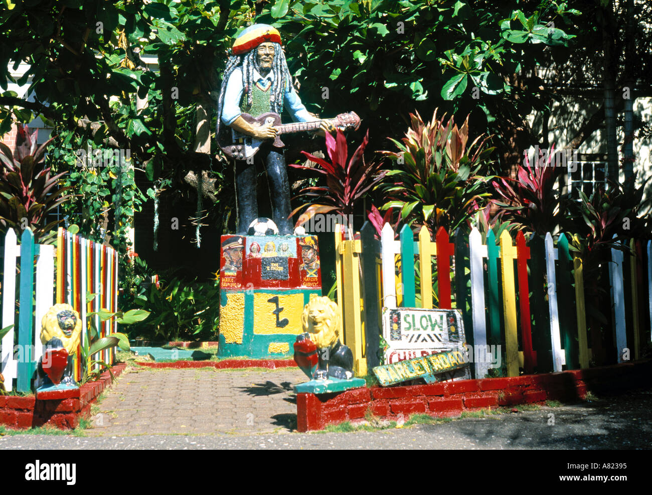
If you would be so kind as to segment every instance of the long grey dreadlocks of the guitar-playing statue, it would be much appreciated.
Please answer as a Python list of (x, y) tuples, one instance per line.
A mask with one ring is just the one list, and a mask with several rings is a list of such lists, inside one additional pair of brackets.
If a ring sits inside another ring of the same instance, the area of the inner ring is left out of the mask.
[[(274, 74), (274, 82), (270, 89), (269, 102), (271, 104), (272, 111), (276, 114), (280, 114), (283, 110), (283, 95), (285, 93), (285, 88), (291, 81), (291, 76), (289, 74), (288, 62), (286, 61), (285, 54), (280, 44), (272, 43), (274, 45), (274, 59), (272, 61), (271, 71)], [(222, 76), (222, 88), (220, 88), (220, 99), (218, 101), (217, 107), (217, 125), (220, 125), (222, 120), (222, 107), (224, 106), (224, 93), (226, 93), (226, 84), (229, 81), (229, 78), (233, 71), (237, 67), (241, 67), (243, 72), (243, 88), (244, 95), (247, 98), (247, 103), (252, 104), (254, 99), (254, 93), (252, 91), (254, 85), (254, 69), (259, 71), (258, 66), (258, 57), (257, 57), (258, 47), (250, 50), (243, 55), (232, 55), (229, 57), (226, 62), (226, 68), (224, 69), (224, 75)]]

